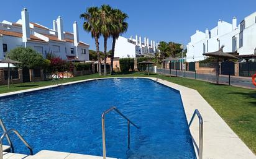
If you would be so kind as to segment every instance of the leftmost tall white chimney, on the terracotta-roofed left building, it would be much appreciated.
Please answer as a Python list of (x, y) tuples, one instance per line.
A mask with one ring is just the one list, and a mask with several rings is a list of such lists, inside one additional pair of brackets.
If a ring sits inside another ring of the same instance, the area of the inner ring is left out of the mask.
[(30, 38), (30, 27), (29, 27), (29, 12), (24, 8), (21, 11), (21, 20), (22, 20), (22, 41), (27, 42), (27, 39)]

